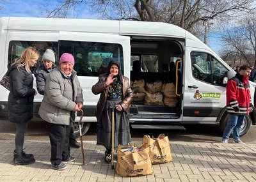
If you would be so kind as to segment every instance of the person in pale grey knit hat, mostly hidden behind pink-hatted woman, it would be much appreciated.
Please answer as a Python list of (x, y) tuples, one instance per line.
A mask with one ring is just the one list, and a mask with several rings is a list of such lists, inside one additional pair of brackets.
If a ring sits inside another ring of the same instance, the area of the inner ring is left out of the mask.
[[(48, 77), (48, 75), (52, 72), (52, 70), (55, 70), (55, 55), (54, 52), (51, 49), (47, 49), (44, 52), (44, 55), (42, 57), (43, 64), (39, 66), (35, 73), (36, 77), (36, 88), (38, 93), (40, 95), (44, 95), (44, 89), (45, 89), (45, 81)], [(69, 146), (72, 148), (80, 148), (80, 144), (77, 142), (76, 137), (74, 135), (74, 126), (73, 123), (71, 123), (72, 126), (70, 128), (70, 140), (69, 140)]]

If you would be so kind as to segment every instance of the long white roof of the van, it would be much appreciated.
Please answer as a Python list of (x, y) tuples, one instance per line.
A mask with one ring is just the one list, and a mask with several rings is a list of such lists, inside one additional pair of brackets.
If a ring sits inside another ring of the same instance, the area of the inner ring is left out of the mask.
[(209, 49), (196, 36), (181, 27), (163, 22), (139, 22), (126, 20), (51, 19), (35, 17), (1, 17), (1, 29), (22, 31), (75, 31), (109, 33), (129, 36), (163, 36), (186, 38), (186, 46)]

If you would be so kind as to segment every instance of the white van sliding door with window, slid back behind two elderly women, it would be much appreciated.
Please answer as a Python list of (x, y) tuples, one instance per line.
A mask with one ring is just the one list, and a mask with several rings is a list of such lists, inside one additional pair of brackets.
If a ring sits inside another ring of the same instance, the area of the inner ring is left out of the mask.
[(109, 61), (120, 62), (124, 75), (130, 76), (130, 38), (113, 34), (62, 31), (59, 58), (65, 52), (75, 58), (74, 70), (83, 89), (84, 105), (86, 109), (91, 109), (87, 114), (94, 116), (99, 95), (93, 95), (92, 86), (97, 83), (99, 75), (106, 72)]

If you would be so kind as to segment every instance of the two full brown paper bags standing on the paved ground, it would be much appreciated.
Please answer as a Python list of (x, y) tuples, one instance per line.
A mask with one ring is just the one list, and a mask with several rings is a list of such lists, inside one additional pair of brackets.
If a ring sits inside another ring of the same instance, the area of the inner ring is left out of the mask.
[[(132, 151), (124, 151), (128, 148)], [(154, 172), (152, 164), (172, 161), (168, 136), (161, 134), (155, 139), (144, 135), (139, 147), (118, 146), (116, 172), (120, 176), (145, 176)]]

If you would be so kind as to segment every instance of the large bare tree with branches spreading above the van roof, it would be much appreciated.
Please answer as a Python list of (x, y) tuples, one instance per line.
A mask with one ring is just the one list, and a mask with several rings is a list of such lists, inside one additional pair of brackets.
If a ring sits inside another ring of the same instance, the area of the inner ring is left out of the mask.
[(63, 0), (47, 17), (67, 17), (82, 4), (107, 19), (167, 22), (189, 31), (205, 20), (230, 20), (255, 10), (255, 0)]

